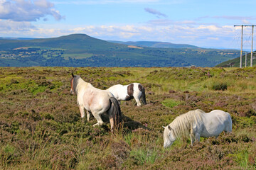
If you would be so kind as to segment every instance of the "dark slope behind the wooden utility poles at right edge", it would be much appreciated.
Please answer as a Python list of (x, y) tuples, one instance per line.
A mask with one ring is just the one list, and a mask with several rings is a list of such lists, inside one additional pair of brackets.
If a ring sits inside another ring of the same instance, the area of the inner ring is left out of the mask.
[[(250, 57), (251, 57), (251, 54), (250, 53), (247, 53), (247, 67), (250, 66)], [(256, 54), (255, 52), (253, 53), (252, 55), (252, 64), (253, 66), (256, 65)], [(228, 60), (228, 61), (225, 61), (225, 62), (222, 62), (218, 65), (216, 65), (215, 67), (240, 67), (240, 57), (236, 57), (235, 59), (233, 60)], [(245, 55), (242, 55), (242, 67), (245, 67)]]

